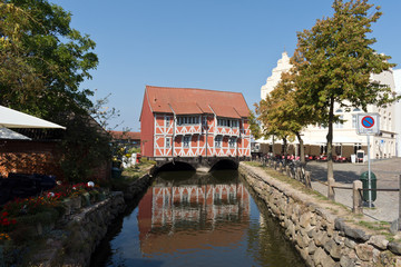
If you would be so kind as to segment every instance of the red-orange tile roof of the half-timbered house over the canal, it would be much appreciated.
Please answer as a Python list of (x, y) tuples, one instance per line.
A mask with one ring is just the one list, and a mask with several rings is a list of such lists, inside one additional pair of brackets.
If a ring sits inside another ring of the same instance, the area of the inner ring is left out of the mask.
[(215, 113), (226, 118), (242, 118), (250, 113), (241, 92), (146, 86), (145, 95), (153, 112)]

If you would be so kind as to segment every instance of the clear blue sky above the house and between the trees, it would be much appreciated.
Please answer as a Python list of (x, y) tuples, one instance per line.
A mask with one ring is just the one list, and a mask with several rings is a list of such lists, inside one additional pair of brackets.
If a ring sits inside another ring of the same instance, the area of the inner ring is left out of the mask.
[[(50, 0), (72, 13), (72, 28), (97, 43), (99, 66), (82, 88), (111, 93), (120, 111), (109, 127), (140, 130), (145, 86), (242, 92), (260, 101), (261, 87), (296, 32), (331, 16), (332, 0)], [(401, 68), (400, 0), (374, 0), (374, 49)]]

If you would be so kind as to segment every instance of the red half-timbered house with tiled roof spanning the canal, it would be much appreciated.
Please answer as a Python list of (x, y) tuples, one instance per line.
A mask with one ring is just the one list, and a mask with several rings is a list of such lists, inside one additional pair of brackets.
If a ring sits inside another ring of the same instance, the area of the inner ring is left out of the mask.
[(140, 116), (143, 156), (251, 157), (247, 115), (242, 93), (147, 86)]

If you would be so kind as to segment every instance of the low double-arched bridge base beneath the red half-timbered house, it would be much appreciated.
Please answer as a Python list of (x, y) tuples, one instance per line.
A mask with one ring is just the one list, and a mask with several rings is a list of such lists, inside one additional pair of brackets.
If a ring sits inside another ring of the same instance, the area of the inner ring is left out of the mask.
[(166, 157), (153, 158), (157, 170), (196, 170), (208, 172), (216, 169), (237, 169), (239, 161), (246, 157)]

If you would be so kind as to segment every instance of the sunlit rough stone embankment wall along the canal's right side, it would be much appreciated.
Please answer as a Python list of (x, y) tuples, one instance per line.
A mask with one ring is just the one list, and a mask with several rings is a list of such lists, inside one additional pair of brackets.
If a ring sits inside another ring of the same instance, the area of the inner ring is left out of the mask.
[(261, 168), (242, 162), (239, 171), (309, 266), (401, 266), (399, 243), (351, 224), (346, 216), (333, 212), (335, 208), (268, 177)]

